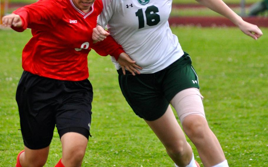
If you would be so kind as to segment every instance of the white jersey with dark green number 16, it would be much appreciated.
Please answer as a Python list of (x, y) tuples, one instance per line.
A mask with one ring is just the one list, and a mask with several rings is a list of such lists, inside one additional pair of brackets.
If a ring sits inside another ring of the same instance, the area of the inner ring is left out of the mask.
[[(142, 74), (160, 71), (183, 55), (168, 24), (172, 0), (102, 0), (98, 24), (107, 25), (111, 36), (143, 69)], [(120, 65), (113, 58), (116, 69)]]

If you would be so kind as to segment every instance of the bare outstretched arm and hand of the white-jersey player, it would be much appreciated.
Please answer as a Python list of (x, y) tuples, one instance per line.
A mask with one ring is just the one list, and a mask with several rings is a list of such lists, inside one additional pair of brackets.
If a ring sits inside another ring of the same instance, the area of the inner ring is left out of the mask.
[(248, 36), (251, 36), (253, 39), (257, 40), (260, 36), (262, 36), (262, 31), (258, 28), (258, 26), (244, 21), (240, 16), (238, 16), (234, 11), (232, 11), (222, 0), (196, 1), (208, 7), (209, 9), (225, 16), (226, 18), (231, 20), (236, 26), (238, 26), (242, 32), (244, 32)]

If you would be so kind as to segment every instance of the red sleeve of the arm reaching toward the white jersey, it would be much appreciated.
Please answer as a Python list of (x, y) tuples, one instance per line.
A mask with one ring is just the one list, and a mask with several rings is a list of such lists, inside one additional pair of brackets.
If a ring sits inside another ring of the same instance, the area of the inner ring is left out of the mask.
[(107, 36), (103, 41), (97, 42), (91, 46), (99, 55), (114, 56), (115, 60), (118, 60), (118, 57), (121, 53), (125, 52), (121, 45), (117, 44), (112, 36)]

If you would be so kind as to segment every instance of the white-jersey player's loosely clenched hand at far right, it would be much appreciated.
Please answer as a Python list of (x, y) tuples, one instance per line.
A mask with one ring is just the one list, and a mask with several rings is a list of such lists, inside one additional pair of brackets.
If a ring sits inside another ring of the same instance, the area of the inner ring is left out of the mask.
[(262, 36), (262, 31), (259, 29), (259, 27), (254, 24), (250, 24), (247, 21), (241, 21), (238, 26), (242, 32), (248, 36), (251, 36), (255, 40)]

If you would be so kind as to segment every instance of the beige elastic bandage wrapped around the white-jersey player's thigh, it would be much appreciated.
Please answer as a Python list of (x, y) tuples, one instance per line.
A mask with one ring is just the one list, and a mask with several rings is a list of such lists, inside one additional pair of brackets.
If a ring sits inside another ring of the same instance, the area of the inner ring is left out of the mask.
[(202, 103), (203, 98), (198, 88), (188, 88), (177, 93), (170, 103), (175, 108), (182, 123), (184, 118), (190, 114), (206, 118)]

